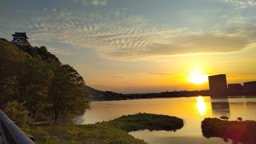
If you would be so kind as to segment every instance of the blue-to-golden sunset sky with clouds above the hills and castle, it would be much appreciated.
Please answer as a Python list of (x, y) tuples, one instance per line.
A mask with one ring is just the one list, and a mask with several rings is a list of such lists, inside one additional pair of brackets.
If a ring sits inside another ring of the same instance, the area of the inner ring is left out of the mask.
[(26, 32), (118, 93), (208, 90), (190, 74), (256, 80), (256, 0), (1, 0), (0, 38)]

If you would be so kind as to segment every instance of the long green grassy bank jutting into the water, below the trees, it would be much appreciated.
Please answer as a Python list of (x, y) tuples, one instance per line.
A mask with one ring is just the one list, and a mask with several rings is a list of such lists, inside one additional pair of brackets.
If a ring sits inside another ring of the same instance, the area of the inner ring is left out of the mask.
[(122, 116), (90, 125), (47, 124), (31, 126), (37, 143), (146, 143), (128, 134), (133, 130), (178, 130), (183, 120), (157, 114)]

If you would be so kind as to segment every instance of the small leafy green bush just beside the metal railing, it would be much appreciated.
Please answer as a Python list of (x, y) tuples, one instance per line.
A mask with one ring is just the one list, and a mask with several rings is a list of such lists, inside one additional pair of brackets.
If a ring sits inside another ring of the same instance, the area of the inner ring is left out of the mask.
[(28, 133), (30, 131), (29, 111), (26, 110), (24, 104), (26, 102), (18, 103), (17, 101), (8, 102), (6, 108), (3, 110), (4, 113), (14, 121), (17, 126), (19, 126), (24, 132)]

